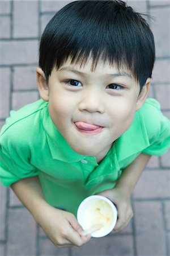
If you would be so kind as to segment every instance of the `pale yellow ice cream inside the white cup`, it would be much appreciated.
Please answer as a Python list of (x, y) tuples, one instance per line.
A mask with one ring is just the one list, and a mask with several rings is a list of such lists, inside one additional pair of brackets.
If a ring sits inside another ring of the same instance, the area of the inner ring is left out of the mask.
[(87, 229), (101, 226), (100, 230), (107, 230), (113, 221), (113, 210), (104, 200), (95, 200), (84, 211), (84, 221)]

